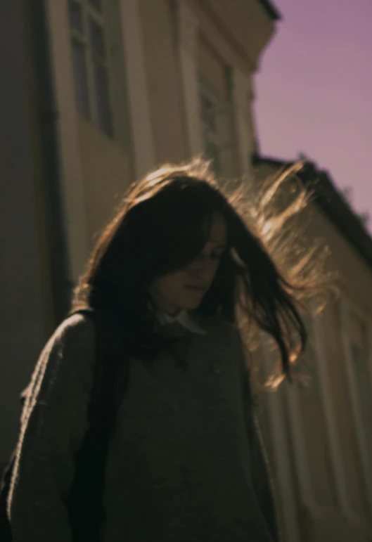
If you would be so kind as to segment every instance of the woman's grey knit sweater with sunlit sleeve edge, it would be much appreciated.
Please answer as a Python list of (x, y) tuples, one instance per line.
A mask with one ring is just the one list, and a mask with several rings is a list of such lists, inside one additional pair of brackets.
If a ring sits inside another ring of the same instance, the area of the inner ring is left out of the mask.
[[(179, 324), (188, 370), (132, 359), (105, 472), (104, 542), (278, 539), (236, 328)], [(41, 353), (21, 418), (8, 502), (14, 542), (71, 542), (64, 502), (87, 429), (94, 326), (72, 316)], [(89, 542), (89, 541), (87, 541)]]

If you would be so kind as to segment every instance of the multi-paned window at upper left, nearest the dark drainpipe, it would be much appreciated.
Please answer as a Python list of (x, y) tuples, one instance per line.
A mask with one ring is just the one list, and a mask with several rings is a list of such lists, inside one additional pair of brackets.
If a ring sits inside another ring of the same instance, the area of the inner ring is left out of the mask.
[(68, 0), (77, 108), (113, 136), (110, 66), (103, 0)]

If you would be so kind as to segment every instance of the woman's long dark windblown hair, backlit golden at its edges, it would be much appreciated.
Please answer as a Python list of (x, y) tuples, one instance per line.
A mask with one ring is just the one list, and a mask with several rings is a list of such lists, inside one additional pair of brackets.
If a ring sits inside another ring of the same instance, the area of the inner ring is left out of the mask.
[(290, 379), (307, 342), (301, 307), (326, 283), (323, 252), (316, 246), (304, 250), (295, 239), (300, 230), (293, 221), (308, 200), (295, 180), (301, 167), (295, 164), (262, 183), (224, 187), (200, 158), (148, 174), (129, 188), (99, 236), (71, 312), (112, 311), (123, 323), (132, 354), (153, 359), (162, 342), (148, 288), (198, 256), (209, 235), (206, 226), (219, 212), (228, 249), (196, 312), (238, 323), (245, 338), (254, 329), (270, 335), (281, 361), (270, 385)]

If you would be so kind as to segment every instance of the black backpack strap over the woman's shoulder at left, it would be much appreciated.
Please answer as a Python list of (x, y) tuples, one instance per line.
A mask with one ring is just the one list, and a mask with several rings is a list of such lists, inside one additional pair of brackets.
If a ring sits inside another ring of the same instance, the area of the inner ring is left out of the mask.
[(89, 405), (89, 430), (77, 453), (75, 479), (68, 499), (74, 542), (100, 541), (105, 522), (103, 489), (110, 435), (128, 382), (129, 360), (120, 323), (106, 311), (77, 311), (94, 321), (96, 366)]

